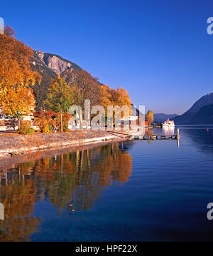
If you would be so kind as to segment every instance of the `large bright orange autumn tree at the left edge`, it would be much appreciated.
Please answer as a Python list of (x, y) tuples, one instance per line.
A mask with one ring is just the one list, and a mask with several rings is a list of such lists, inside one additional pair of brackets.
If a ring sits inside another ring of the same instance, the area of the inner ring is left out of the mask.
[(0, 35), (0, 102), (3, 113), (19, 120), (35, 106), (31, 86), (40, 75), (31, 69), (33, 50), (12, 35), (7, 26)]

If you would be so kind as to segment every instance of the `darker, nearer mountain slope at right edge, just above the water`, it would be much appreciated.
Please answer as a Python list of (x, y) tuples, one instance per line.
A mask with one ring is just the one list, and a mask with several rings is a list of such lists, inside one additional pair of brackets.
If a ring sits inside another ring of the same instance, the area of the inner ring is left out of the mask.
[(192, 124), (213, 124), (213, 104), (200, 108), (193, 116)]

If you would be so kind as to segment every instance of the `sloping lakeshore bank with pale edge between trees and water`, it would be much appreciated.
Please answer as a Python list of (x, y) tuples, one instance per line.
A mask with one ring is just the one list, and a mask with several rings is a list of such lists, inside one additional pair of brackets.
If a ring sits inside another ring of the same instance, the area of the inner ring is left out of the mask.
[(50, 148), (76, 147), (107, 140), (128, 139), (129, 135), (105, 130), (80, 130), (67, 133), (49, 133), (18, 135), (16, 133), (0, 135), (0, 158), (25, 154), (31, 151)]

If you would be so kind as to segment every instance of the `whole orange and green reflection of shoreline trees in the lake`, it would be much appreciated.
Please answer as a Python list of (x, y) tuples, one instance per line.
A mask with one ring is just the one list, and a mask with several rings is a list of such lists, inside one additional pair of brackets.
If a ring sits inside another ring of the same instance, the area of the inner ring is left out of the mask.
[(0, 241), (31, 240), (43, 222), (33, 215), (36, 201), (48, 200), (58, 216), (89, 210), (104, 187), (129, 180), (131, 162), (126, 148), (113, 143), (0, 168)]

